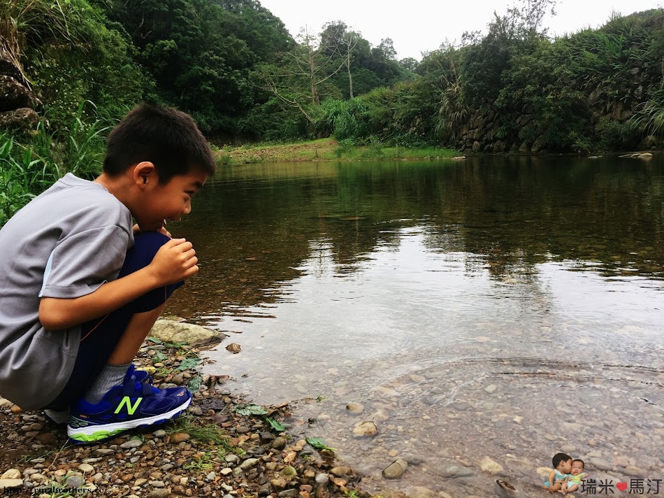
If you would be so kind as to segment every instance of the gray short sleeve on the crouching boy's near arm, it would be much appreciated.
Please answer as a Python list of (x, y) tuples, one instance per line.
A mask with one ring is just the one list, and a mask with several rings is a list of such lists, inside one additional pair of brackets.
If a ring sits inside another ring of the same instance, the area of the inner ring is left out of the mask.
[(127, 255), (129, 234), (117, 225), (76, 232), (51, 252), (39, 297), (73, 298), (115, 280)]

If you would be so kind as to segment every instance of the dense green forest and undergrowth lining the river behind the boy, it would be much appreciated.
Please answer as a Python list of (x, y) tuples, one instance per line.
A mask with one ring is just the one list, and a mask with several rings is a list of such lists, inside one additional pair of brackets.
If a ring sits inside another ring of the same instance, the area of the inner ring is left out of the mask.
[(551, 39), (554, 4), (522, 0), (416, 61), (342, 21), (294, 38), (258, 0), (5, 0), (0, 225), (64, 171), (94, 175), (103, 137), (138, 101), (192, 114), (219, 145), (661, 146), (663, 11)]

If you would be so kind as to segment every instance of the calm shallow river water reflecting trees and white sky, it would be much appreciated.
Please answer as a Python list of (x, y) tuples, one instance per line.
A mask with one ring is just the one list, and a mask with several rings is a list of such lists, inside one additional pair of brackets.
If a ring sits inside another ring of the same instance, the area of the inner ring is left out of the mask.
[(201, 272), (168, 311), (236, 332), (208, 371), (309, 399), (296, 430), (370, 490), (537, 492), (561, 450), (664, 478), (662, 162), (242, 166), (200, 196), (176, 235)]

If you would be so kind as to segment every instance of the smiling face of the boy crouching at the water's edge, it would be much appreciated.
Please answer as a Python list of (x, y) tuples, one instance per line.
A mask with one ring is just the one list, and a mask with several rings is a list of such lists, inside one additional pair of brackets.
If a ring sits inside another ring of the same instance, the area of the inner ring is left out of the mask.
[(192, 168), (189, 173), (176, 175), (161, 185), (154, 181), (143, 192), (140, 206), (132, 213), (141, 232), (157, 232), (164, 220), (176, 221), (192, 211), (192, 196), (208, 179), (208, 173)]

